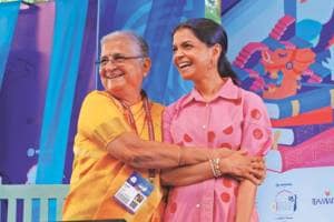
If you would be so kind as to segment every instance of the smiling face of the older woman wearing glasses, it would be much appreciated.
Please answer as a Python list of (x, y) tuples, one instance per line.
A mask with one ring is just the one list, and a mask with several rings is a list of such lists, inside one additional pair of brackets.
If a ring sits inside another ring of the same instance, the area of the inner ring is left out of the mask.
[[(150, 69), (148, 58), (117, 59), (141, 56), (137, 42), (125, 34), (114, 36), (101, 46), (100, 78), (105, 89), (119, 99), (140, 93), (144, 77)], [(112, 60), (114, 61), (110, 61)]]

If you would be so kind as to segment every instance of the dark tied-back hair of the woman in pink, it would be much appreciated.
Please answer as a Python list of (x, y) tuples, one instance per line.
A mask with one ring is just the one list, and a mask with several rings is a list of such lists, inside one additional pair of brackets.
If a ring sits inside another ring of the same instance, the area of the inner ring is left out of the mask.
[(222, 53), (218, 59), (218, 72), (222, 78), (229, 77), (235, 84), (238, 84), (238, 78), (233, 71), (229, 61), (226, 58), (228, 41), (227, 34), (224, 28), (210, 19), (196, 18), (189, 19), (185, 22), (179, 23), (174, 30), (175, 32), (180, 29), (189, 29), (193, 31), (195, 37), (204, 42), (207, 47), (213, 47), (218, 43), (222, 46)]

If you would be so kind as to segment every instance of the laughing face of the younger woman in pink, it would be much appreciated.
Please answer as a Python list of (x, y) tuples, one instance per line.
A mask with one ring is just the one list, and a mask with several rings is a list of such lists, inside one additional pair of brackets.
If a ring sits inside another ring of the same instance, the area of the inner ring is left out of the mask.
[(186, 80), (205, 78), (209, 70), (217, 71), (219, 46), (207, 47), (188, 28), (177, 30), (173, 38), (173, 61)]

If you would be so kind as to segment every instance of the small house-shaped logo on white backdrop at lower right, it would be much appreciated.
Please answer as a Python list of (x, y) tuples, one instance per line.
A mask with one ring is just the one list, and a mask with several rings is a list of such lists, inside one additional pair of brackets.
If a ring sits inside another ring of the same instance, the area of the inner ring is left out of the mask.
[(276, 194), (273, 210), (281, 216), (292, 215), (297, 210), (297, 195), (288, 190), (282, 190)]

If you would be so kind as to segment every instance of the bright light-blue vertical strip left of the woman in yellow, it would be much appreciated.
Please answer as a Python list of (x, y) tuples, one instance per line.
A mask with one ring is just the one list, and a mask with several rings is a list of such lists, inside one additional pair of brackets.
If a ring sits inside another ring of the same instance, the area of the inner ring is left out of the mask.
[(56, 1), (50, 77), (37, 183), (61, 183), (88, 0)]

